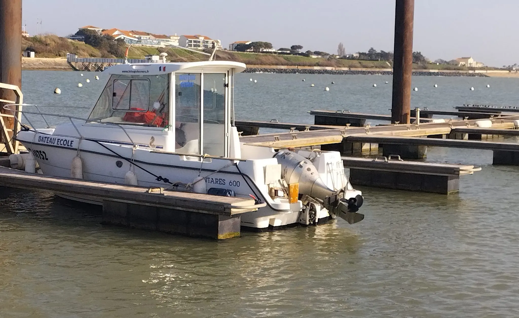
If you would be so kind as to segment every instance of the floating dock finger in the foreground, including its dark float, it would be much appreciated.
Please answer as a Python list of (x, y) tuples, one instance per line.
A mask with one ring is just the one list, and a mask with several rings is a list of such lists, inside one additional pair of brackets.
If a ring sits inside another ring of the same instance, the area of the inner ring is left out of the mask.
[(4, 167), (0, 167), (0, 185), (101, 198), (103, 221), (107, 224), (213, 239), (239, 236), (240, 215), (264, 206), (255, 205), (248, 198), (150, 191), (144, 187), (52, 177)]

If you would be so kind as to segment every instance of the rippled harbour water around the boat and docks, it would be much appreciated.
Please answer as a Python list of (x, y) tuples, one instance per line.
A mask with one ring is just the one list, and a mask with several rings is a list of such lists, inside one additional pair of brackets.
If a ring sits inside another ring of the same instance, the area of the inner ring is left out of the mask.
[[(84, 75), (23, 72), (24, 101), (70, 104), (67, 114), (84, 117), (74, 106), (91, 106), (106, 74)], [(413, 86), (412, 107), (519, 106), (517, 79), (413, 77)], [(311, 123), (312, 109), (391, 107), (387, 76), (240, 74), (236, 87), (239, 119)], [(366, 217), (353, 226), (338, 219), (223, 242), (103, 226), (98, 208), (3, 188), (0, 316), (519, 316), (519, 167), (472, 149), (430, 148), (427, 160), (483, 170), (448, 197), (361, 188)]]

